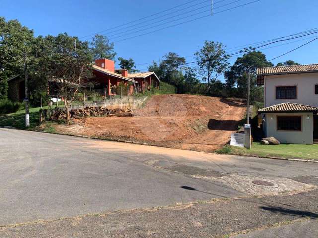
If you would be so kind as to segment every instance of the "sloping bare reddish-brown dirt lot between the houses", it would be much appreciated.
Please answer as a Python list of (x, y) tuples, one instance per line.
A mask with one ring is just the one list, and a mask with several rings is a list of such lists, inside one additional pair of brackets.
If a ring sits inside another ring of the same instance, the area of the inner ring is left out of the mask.
[(214, 151), (227, 143), (246, 109), (242, 100), (196, 95), (158, 95), (133, 112), (135, 117), (73, 119), (62, 133), (144, 142), (173, 148)]

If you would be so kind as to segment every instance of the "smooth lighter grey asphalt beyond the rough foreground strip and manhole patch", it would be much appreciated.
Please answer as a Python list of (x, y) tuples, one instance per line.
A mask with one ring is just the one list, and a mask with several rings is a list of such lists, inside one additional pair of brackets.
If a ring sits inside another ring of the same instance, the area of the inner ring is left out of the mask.
[[(171, 163), (187, 167), (161, 168)], [(318, 168), (2, 128), (0, 164), (0, 225), (244, 195), (189, 177), (189, 168), (262, 178), (317, 176)]]

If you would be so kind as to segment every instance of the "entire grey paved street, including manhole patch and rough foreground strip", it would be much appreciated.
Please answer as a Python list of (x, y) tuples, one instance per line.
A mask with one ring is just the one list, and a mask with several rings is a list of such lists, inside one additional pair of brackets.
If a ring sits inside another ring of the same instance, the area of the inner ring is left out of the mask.
[[(304, 218), (317, 232), (318, 163), (3, 128), (0, 163), (0, 237), (89, 237), (85, 229), (94, 226), (102, 230), (92, 237), (169, 235), (158, 226), (174, 227), (175, 237), (193, 237), (191, 226), (201, 237), (221, 236)], [(275, 186), (259, 188), (250, 179)]]

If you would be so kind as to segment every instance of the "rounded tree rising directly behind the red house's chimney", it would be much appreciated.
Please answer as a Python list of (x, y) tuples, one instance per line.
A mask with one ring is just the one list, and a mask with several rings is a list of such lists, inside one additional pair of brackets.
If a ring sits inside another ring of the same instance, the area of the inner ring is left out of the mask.
[(114, 60), (116, 52), (114, 51), (114, 43), (110, 42), (107, 36), (95, 35), (91, 42), (91, 51), (94, 59), (106, 58)]

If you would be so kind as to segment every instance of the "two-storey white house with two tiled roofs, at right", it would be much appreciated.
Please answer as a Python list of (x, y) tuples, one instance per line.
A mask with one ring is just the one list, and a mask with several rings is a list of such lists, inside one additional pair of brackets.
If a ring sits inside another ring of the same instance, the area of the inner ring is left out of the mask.
[(318, 143), (318, 64), (257, 69), (264, 85), (263, 119), (266, 136), (282, 143)]

